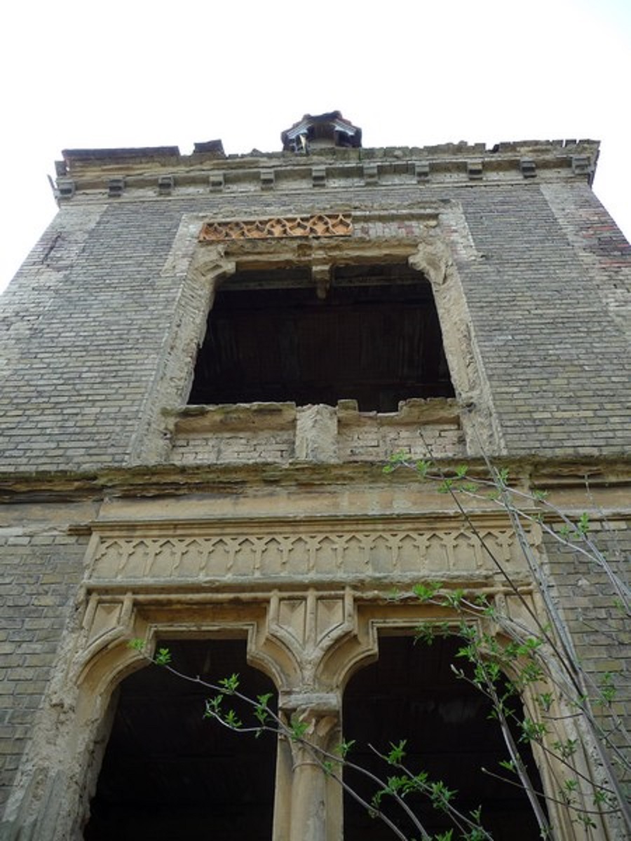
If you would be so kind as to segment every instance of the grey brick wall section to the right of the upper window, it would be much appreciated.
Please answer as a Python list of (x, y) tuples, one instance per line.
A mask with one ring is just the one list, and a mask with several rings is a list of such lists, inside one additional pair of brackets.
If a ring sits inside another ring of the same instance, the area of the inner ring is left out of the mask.
[(548, 201), (528, 185), (463, 205), (480, 254), (464, 294), (507, 451), (624, 452), (628, 341)]

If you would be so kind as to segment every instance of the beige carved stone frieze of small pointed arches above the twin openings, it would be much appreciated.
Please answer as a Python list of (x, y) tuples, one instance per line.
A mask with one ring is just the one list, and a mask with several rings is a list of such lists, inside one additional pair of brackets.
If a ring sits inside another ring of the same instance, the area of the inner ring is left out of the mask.
[[(233, 527), (234, 528), (234, 527)], [(450, 530), (358, 530), (262, 534), (226, 528), (220, 534), (178, 536), (93, 535), (87, 558), (89, 587), (138, 584), (271, 584), (320, 579), (452, 579), (495, 572), (490, 553), (516, 574), (525, 566), (510, 527), (480, 526), (486, 548), (459, 527)], [(533, 532), (533, 547), (538, 545)]]

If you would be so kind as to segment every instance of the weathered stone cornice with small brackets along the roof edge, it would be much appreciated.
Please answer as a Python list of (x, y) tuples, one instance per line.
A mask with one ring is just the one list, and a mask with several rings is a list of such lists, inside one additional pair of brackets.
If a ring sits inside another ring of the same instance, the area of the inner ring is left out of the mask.
[(149, 149), (71, 150), (57, 165), (60, 201), (116, 200), (294, 193), (315, 188), (395, 188), (424, 184), (549, 181), (579, 177), (591, 182), (597, 164), (595, 140), (443, 144), (385, 149), (327, 149), (220, 156), (177, 146)]

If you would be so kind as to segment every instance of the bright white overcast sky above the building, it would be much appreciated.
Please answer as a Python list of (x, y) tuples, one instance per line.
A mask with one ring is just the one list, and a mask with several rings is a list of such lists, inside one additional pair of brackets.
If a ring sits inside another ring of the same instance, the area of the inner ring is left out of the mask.
[(364, 146), (601, 140), (594, 189), (631, 237), (631, 0), (31, 0), (0, 27), (0, 288), (61, 149), (276, 151), (336, 108)]

